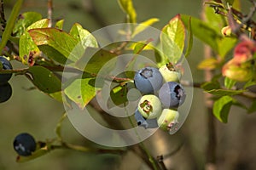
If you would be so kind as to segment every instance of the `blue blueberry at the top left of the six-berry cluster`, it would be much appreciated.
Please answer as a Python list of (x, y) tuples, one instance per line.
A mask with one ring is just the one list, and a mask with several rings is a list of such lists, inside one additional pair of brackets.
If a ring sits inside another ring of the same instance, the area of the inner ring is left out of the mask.
[(154, 94), (160, 89), (162, 82), (160, 71), (154, 67), (145, 67), (134, 76), (135, 87), (143, 94)]

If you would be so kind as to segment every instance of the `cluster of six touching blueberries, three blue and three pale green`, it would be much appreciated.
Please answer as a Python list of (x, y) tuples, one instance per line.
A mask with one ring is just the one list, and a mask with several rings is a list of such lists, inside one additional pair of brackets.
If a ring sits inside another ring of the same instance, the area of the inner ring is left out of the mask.
[(186, 98), (180, 77), (180, 72), (171, 63), (159, 69), (145, 67), (136, 72), (134, 84), (143, 94), (134, 115), (138, 126), (172, 130), (177, 124), (177, 108)]

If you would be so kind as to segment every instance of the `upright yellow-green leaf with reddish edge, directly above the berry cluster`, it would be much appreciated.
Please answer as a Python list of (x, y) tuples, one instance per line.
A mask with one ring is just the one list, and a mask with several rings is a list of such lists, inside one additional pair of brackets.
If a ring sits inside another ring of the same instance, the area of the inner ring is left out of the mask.
[(179, 14), (172, 18), (169, 24), (162, 29), (160, 42), (163, 53), (169, 61), (177, 63), (182, 57), (185, 43), (185, 28)]

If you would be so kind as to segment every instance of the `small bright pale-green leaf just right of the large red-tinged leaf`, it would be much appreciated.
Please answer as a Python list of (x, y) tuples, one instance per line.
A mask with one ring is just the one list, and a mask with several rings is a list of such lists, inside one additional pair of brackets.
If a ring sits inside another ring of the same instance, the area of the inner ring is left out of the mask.
[(82, 46), (85, 48), (98, 48), (98, 43), (96, 38), (93, 37), (89, 31), (85, 30), (78, 23), (74, 24), (71, 28), (69, 34), (82, 43)]

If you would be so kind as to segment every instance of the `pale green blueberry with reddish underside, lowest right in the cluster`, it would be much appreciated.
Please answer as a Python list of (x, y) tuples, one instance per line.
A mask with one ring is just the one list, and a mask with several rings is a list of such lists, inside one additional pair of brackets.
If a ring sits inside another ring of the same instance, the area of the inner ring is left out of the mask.
[(157, 119), (158, 126), (164, 131), (172, 130), (177, 124), (178, 112), (172, 109), (164, 109)]

